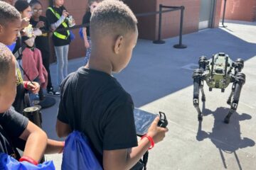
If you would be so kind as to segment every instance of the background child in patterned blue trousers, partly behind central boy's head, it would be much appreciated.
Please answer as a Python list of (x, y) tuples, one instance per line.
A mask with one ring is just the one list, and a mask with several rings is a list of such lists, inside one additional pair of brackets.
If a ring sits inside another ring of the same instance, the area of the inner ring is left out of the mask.
[[(88, 6), (89, 10), (85, 13), (85, 15), (82, 17), (82, 24), (90, 23), (90, 17), (92, 16), (92, 12), (95, 10), (97, 5), (100, 3), (100, 0), (89, 0)], [(90, 26), (87, 26), (85, 28), (82, 28), (82, 36), (85, 42), (85, 48), (86, 48), (86, 55), (85, 55), (85, 65), (89, 61), (90, 58), (90, 52), (92, 49), (92, 43), (90, 40)]]

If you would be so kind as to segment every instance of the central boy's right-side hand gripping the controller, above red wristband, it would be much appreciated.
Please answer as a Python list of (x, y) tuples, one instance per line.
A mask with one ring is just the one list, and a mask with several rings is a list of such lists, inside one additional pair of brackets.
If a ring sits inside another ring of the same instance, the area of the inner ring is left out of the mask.
[(159, 116), (157, 116), (153, 123), (150, 125), (148, 130), (148, 135), (153, 138), (154, 143), (160, 142), (161, 140), (164, 140), (165, 133), (168, 132), (167, 128), (160, 128), (157, 126), (157, 123), (159, 122)]

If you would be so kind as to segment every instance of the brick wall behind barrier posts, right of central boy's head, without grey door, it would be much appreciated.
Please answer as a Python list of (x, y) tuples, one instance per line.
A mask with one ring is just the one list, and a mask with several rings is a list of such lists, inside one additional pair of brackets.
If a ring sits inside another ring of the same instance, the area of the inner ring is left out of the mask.
[[(164, 6), (185, 6), (183, 18), (183, 34), (198, 31), (201, 0), (127, 0), (125, 3), (134, 13), (159, 11), (159, 4)], [(220, 21), (221, 0), (217, 0), (214, 27)], [(161, 38), (171, 38), (179, 33), (181, 11), (164, 13), (162, 18)], [(159, 16), (144, 16), (138, 18), (139, 38), (156, 40), (158, 37)]]

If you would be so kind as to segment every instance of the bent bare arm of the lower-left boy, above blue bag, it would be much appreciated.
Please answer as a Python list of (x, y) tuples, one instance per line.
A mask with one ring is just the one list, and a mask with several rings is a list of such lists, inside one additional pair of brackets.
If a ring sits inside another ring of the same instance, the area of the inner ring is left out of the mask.
[(46, 149), (47, 135), (41, 128), (28, 121), (26, 129), (21, 134), (20, 138), (26, 141), (26, 146), (23, 156), (30, 157), (35, 161), (39, 161)]

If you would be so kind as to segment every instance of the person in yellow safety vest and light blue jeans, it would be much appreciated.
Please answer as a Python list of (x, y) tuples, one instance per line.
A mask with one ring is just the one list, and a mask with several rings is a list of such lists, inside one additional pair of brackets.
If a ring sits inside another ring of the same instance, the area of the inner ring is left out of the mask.
[[(50, 29), (68, 28), (66, 18), (69, 13), (63, 6), (64, 0), (51, 0), (52, 4), (46, 10), (46, 18), (50, 23)], [(57, 84), (60, 86), (61, 81), (68, 75), (68, 48), (70, 45), (70, 31), (54, 31), (53, 45), (57, 57)]]

